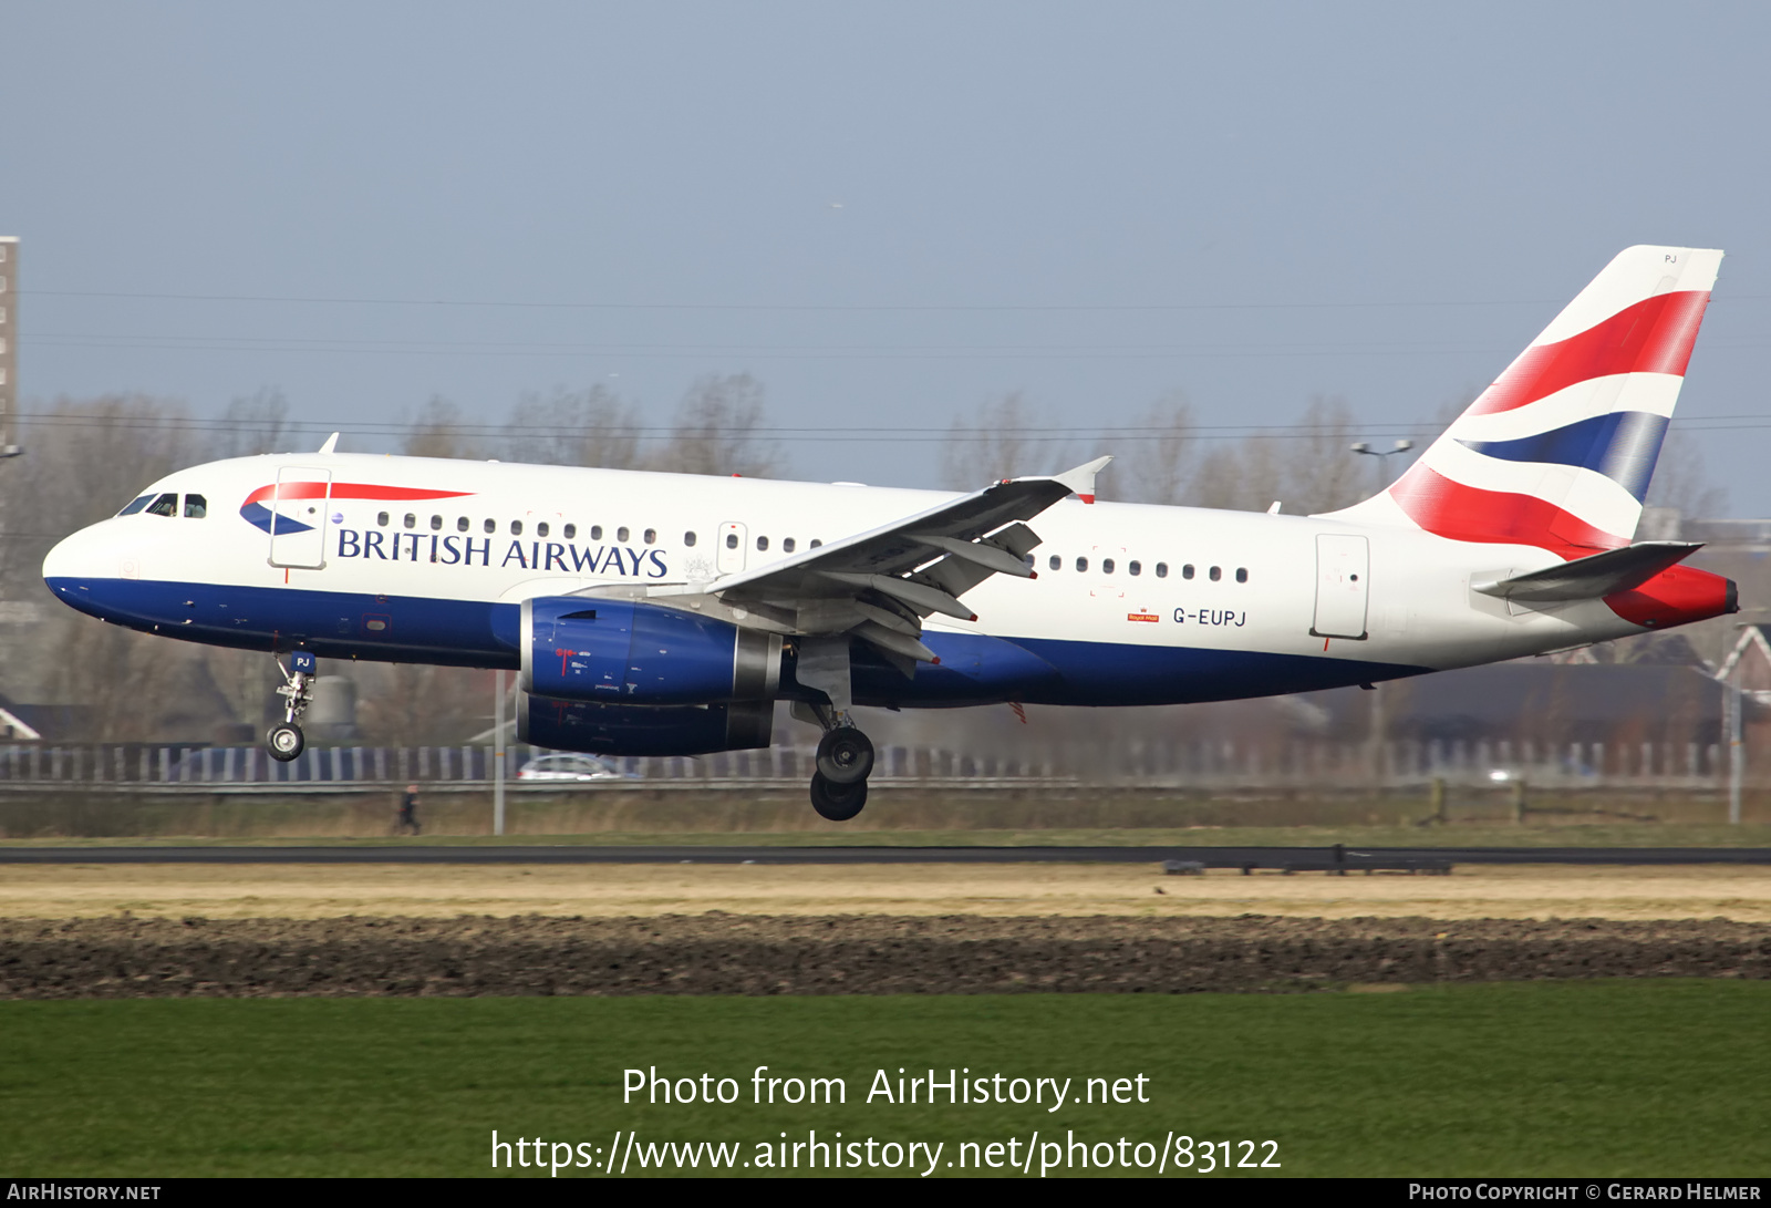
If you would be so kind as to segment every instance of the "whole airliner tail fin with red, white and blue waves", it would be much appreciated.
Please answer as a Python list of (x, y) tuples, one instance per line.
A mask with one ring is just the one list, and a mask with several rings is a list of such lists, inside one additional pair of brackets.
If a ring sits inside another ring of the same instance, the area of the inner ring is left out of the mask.
[(1394, 485), (1337, 515), (1566, 558), (1628, 546), (1720, 266), (1620, 252)]

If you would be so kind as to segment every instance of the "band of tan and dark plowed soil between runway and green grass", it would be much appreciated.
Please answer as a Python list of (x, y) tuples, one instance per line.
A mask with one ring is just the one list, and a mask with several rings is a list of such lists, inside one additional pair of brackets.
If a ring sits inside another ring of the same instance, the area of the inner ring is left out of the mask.
[[(1158, 893), (1160, 891), (1160, 893)], [(1771, 976), (1771, 870), (16, 866), (0, 997), (995, 994)]]

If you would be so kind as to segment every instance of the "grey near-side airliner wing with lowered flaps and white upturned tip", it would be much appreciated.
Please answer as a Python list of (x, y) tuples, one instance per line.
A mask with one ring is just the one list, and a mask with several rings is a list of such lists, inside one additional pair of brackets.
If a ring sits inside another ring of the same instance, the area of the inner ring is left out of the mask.
[(882, 528), (726, 576), (708, 590), (792, 632), (852, 632), (896, 655), (893, 662), (909, 671), (933, 659), (921, 643), (924, 616), (978, 620), (960, 602), (965, 592), (992, 574), (1036, 577), (1024, 556), (1040, 537), (1025, 521), (1070, 494), (1093, 503), (1094, 475), (1110, 461), (1098, 457), (1048, 478), (1004, 478)]

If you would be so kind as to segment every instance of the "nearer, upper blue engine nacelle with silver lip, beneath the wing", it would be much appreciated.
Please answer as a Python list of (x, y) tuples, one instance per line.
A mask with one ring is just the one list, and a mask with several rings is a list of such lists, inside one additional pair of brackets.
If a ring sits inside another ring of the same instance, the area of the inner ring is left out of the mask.
[[(770, 701), (781, 638), (643, 600), (522, 600), (522, 691), (563, 701)], [(719, 747), (708, 747), (719, 749)]]

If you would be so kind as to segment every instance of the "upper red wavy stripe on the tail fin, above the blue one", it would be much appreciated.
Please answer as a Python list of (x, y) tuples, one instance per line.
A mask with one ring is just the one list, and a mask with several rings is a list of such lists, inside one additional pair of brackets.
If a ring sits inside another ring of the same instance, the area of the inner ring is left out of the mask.
[(1613, 374), (1682, 377), (1707, 305), (1707, 290), (1656, 294), (1580, 335), (1528, 347), (1465, 414), (1514, 411), (1576, 383)]

